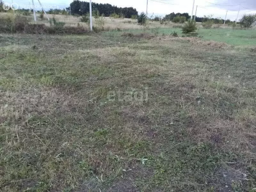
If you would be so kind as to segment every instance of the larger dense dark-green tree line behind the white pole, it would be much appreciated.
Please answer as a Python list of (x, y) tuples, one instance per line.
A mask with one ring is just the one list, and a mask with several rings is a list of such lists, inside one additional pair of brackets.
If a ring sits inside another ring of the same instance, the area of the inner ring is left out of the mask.
[[(74, 0), (70, 4), (70, 10), (72, 15), (85, 15), (90, 12), (90, 3), (85, 1)], [(66, 8), (69, 10), (69, 7)], [(138, 15), (138, 11), (133, 7), (117, 7), (111, 4), (98, 4), (92, 3), (92, 11), (99, 12), (100, 15), (109, 17), (111, 14), (118, 14), (121, 17), (131, 18), (133, 15)]]

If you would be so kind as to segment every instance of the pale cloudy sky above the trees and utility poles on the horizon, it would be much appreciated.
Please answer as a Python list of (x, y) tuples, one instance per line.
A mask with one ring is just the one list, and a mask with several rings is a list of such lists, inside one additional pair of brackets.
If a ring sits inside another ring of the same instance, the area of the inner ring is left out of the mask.
[[(59, 8), (68, 7), (73, 0), (41, 0), (44, 6), (56, 5)], [(89, 1), (89, 0), (85, 0)], [(11, 3), (11, 0), (4, 2)], [(32, 0), (13, 0), (19, 6), (29, 5)], [(34, 0), (36, 5), (39, 5), (37, 0)], [(147, 0), (92, 0), (95, 3), (109, 3), (118, 7), (134, 7), (138, 12), (146, 12)], [(175, 4), (175, 5), (174, 5)], [(197, 7), (197, 16), (213, 15), (213, 17), (225, 18), (228, 10), (227, 19), (235, 20), (240, 7), (238, 19), (247, 13), (256, 13), (256, 0), (195, 0), (195, 9)], [(148, 0), (148, 15), (164, 16), (171, 12), (192, 12), (193, 0)], [(226, 5), (226, 6), (223, 6)], [(232, 6), (231, 6), (232, 5)]]

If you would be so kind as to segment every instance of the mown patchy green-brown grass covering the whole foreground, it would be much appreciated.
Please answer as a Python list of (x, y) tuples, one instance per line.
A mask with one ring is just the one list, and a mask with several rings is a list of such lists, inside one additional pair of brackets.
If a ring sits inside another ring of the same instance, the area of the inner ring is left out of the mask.
[(124, 32), (0, 49), (1, 191), (255, 191), (255, 50)]

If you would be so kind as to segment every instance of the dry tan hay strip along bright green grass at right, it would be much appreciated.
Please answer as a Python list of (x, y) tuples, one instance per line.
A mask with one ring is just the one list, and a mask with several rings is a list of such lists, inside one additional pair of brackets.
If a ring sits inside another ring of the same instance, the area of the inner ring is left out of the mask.
[(216, 42), (216, 41), (202, 41), (198, 37), (182, 37), (184, 40), (188, 40), (190, 43), (194, 45), (200, 45), (204, 47), (212, 47), (212, 48), (219, 48), (219, 49), (229, 49), (231, 45), (228, 45), (225, 42)]

